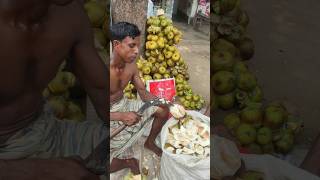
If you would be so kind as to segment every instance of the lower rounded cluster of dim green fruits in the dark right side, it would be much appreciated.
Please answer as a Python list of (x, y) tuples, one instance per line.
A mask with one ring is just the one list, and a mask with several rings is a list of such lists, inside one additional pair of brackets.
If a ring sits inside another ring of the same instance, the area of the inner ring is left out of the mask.
[(224, 125), (239, 147), (254, 154), (287, 154), (294, 147), (302, 122), (280, 102), (250, 104), (224, 117)]

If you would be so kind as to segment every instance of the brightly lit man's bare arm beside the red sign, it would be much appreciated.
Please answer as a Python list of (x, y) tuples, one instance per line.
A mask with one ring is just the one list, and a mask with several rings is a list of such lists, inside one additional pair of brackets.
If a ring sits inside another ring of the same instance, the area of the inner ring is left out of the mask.
[(136, 65), (134, 65), (134, 74), (133, 74), (133, 84), (137, 89), (139, 96), (141, 97), (142, 101), (149, 101), (153, 99), (157, 99), (158, 97), (149, 93), (139, 76), (139, 70)]

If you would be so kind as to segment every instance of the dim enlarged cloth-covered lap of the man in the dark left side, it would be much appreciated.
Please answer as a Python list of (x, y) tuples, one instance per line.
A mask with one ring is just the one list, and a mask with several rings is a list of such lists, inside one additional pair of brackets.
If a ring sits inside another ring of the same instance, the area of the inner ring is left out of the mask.
[(0, 159), (77, 156), (85, 160), (87, 168), (105, 174), (107, 135), (102, 121), (59, 120), (45, 107), (34, 122), (0, 145)]

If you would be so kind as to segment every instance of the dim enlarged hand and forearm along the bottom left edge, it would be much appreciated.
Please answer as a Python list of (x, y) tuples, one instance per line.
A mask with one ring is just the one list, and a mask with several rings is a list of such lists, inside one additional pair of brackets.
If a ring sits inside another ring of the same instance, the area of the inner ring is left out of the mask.
[(1, 162), (0, 177), (6, 180), (99, 180), (81, 161), (72, 158)]

